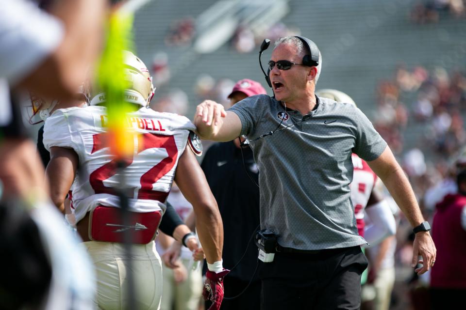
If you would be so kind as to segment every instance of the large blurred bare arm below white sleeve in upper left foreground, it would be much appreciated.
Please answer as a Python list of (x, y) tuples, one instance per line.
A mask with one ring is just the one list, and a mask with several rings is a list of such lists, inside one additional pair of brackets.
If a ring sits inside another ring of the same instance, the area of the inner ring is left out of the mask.
[(34, 93), (70, 100), (86, 79), (89, 66), (99, 56), (107, 0), (55, 1), (50, 13), (63, 21), (60, 45), (19, 82)]

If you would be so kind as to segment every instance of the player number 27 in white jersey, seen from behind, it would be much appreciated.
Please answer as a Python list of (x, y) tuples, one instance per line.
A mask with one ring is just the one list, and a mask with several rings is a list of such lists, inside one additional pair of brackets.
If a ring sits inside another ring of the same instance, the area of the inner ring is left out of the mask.
[[(97, 274), (97, 306), (124, 308), (130, 299), (126, 278), (132, 273), (135, 306), (158, 309), (162, 266), (153, 240), (176, 180), (196, 212), (200, 240), (213, 273), (206, 286), (213, 291), (219, 307), (223, 298), (221, 278), (228, 273), (221, 261), (223, 228), (215, 199), (195, 158), (195, 153), (201, 153), (201, 144), (192, 132), (195, 127), (183, 116), (147, 109), (154, 91), (149, 71), (133, 53), (122, 52), (128, 82), (125, 100), (133, 108), (127, 126), (138, 133), (131, 141), (133, 154), (124, 159), (125, 169), (118, 170), (109, 152), (106, 94), (92, 87), (90, 107), (56, 109), (46, 120), (44, 145), (50, 151), (47, 175), (52, 201), (63, 209), (72, 188), (77, 231)], [(126, 180), (130, 226), (119, 217), (116, 188), (121, 176)], [(128, 229), (133, 232), (131, 257), (126, 257), (121, 236)]]

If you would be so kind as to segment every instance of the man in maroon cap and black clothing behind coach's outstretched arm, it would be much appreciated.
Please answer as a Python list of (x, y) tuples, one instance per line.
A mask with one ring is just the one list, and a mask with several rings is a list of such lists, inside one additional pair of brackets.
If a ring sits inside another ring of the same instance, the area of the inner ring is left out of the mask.
[[(233, 106), (258, 94), (266, 94), (264, 87), (246, 78), (236, 82), (228, 98)], [(251, 282), (243, 294), (223, 302), (225, 310), (260, 309), (261, 302), (261, 282), (255, 274), (257, 248), (251, 242), (259, 226), (259, 188), (256, 186), (259, 170), (251, 148), (241, 145), (242, 141), (244, 139), (238, 138), (213, 144), (201, 164), (222, 216), (226, 241), (223, 262), (228, 268), (239, 263), (224, 280), (225, 295), (236, 296)], [(245, 252), (246, 256), (239, 262)]]

